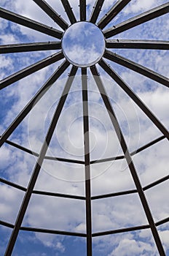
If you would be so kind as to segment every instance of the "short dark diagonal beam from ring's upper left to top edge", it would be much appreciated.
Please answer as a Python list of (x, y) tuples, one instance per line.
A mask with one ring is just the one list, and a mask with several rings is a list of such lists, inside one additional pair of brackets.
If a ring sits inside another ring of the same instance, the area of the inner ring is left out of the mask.
[(47, 4), (46, 1), (44, 0), (33, 0), (36, 4), (39, 5), (39, 7), (42, 8), (42, 10), (44, 10), (44, 12), (47, 13), (47, 15), (50, 16), (50, 18), (52, 18), (52, 20), (55, 21), (55, 23), (57, 23), (60, 28), (62, 28), (63, 30), (68, 29), (68, 23), (66, 23), (65, 20), (63, 20), (63, 18), (60, 17), (60, 15), (58, 15), (58, 13), (52, 9), (52, 7), (50, 7), (50, 4)]

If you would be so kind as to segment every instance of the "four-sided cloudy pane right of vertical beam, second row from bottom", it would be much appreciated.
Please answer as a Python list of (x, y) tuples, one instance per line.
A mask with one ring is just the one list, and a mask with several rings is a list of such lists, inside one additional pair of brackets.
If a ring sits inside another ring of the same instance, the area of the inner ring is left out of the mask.
[(92, 206), (93, 233), (147, 224), (138, 195), (93, 200)]

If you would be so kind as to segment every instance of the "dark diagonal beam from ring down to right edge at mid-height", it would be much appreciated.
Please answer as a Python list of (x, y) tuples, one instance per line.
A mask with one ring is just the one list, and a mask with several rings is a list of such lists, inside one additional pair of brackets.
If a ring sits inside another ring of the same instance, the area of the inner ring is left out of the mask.
[(138, 105), (139, 108), (146, 114), (146, 116), (149, 117), (149, 119), (155, 124), (155, 126), (160, 129), (160, 132), (162, 132), (163, 135), (165, 135), (166, 138), (169, 140), (169, 132), (168, 129), (166, 129), (163, 124), (158, 120), (158, 118), (152, 113), (149, 108), (146, 107), (144, 102), (141, 101), (141, 99), (134, 93), (130, 87), (127, 86), (127, 83), (125, 83), (122, 78), (117, 75), (117, 73), (109, 67), (109, 65), (106, 63), (106, 61), (101, 60), (99, 62), (100, 66), (113, 78), (117, 84), (123, 89), (123, 91), (126, 92), (126, 94), (133, 99), (136, 105)]

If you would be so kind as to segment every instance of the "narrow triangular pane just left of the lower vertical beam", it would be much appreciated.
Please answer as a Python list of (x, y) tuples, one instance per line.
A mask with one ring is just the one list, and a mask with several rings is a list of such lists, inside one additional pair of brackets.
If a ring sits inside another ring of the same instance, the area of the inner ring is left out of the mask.
[[(62, 89), (66, 80), (62, 80)], [(54, 105), (52, 105), (51, 110), (54, 111), (54, 109)], [(48, 111), (47, 115), (50, 116), (50, 111)], [(81, 75), (77, 73), (63, 110), (60, 113), (47, 155), (84, 161), (82, 116), (82, 81)]]

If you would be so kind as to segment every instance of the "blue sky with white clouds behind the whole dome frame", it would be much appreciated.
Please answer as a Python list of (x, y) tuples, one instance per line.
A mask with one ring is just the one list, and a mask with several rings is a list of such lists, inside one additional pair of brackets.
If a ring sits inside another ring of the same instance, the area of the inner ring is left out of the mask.
[[(72, 10), (74, 11), (76, 20), (79, 20), (79, 1), (70, 0), (69, 2), (71, 7), (73, 7)], [(112, 0), (104, 1), (98, 20), (103, 17), (115, 2)], [(106, 26), (106, 29), (167, 2), (165, 0), (132, 0)], [(61, 1), (48, 0), (47, 3), (70, 24)], [(87, 1), (87, 18), (90, 18), (94, 3), (95, 1), (93, 0)], [(32, 0), (0, 0), (0, 6), (37, 20), (47, 26), (60, 29)], [(163, 15), (160, 18), (122, 32), (112, 37), (112, 39), (168, 40), (168, 26), (168, 15)], [(60, 30), (62, 31), (62, 29)], [(68, 39), (71, 56), (74, 56), (75, 61), (83, 61), (82, 64), (84, 64), (84, 58), (91, 61), (90, 57), (95, 56), (101, 47), (99, 43), (97, 45), (93, 40), (93, 44), (90, 45), (90, 55), (87, 56), (85, 47), (89, 43), (88, 37), (90, 36), (90, 31), (87, 30), (86, 33), (84, 37), (82, 31), (77, 27), (74, 29), (74, 34), (71, 34), (71, 38)], [(75, 48), (71, 45), (71, 39), (74, 39), (76, 34), (82, 40), (77, 40)], [(46, 34), (27, 29), (24, 26), (0, 18), (1, 45), (24, 42), (49, 42), (55, 40), (58, 41), (58, 39)], [(83, 49), (81, 49), (82, 47)], [(144, 65), (155, 72), (159, 72), (165, 77), (169, 75), (169, 58), (166, 50), (109, 50), (138, 64)], [(0, 80), (58, 51), (46, 50), (31, 53), (1, 54)], [(168, 128), (169, 92), (167, 87), (143, 75), (139, 75), (130, 69), (119, 66), (112, 61), (106, 60), (106, 62), (146, 103), (162, 124)], [(42, 87), (62, 63), (63, 60), (57, 61), (55, 64), (45, 67), (1, 90), (0, 135), (9, 127), (9, 124), (12, 123), (31, 97), (34, 96), (36, 91)], [(133, 152), (146, 143), (160, 138), (162, 133), (154, 126), (152, 121), (149, 121), (149, 118), (147, 118), (140, 108), (135, 105), (98, 64), (96, 64), (96, 67), (101, 74), (101, 79), (117, 115), (129, 151)], [(36, 106), (34, 106), (31, 113), (28, 114), (17, 129), (15, 129), (15, 132), (9, 137), (9, 140), (30, 148), (37, 153), (40, 152), (70, 70), (71, 65), (52, 85), (44, 97), (39, 100)], [(103, 105), (90, 69), (87, 69), (87, 83), (89, 89), (90, 158), (91, 160), (99, 160), (122, 155), (122, 148), (119, 145), (116, 132), (111, 124), (109, 114)], [(47, 150), (47, 156), (84, 161), (82, 111), (82, 81), (81, 72), (78, 69), (70, 93), (66, 99), (66, 104), (63, 107), (63, 112), (60, 115), (57, 127), (52, 136), (50, 147)], [(168, 149), (168, 140), (165, 139), (133, 156), (133, 162), (143, 187), (157, 181), (159, 178), (168, 176)], [(0, 149), (0, 158), (1, 178), (27, 187), (31, 173), (34, 170), (34, 165), (36, 164), (36, 157), (4, 143)], [(135, 189), (135, 184), (125, 160), (96, 162), (90, 166), (90, 169), (92, 196)], [(155, 222), (168, 217), (168, 182), (165, 181), (145, 192)], [(84, 196), (84, 165), (44, 160), (35, 189)], [(24, 192), (0, 183), (1, 221), (15, 223), (23, 196)], [(93, 200), (92, 217), (93, 233), (122, 227), (132, 227), (133, 225), (146, 225), (148, 223), (137, 194)], [(23, 219), (23, 226), (85, 233), (84, 201), (32, 195)], [(160, 225), (158, 231), (165, 248), (165, 253), (169, 255), (168, 223)], [(12, 230), (8, 227), (0, 226), (0, 255), (4, 255), (11, 232)], [(15, 249), (12, 253), (12, 256), (17, 255), (83, 256), (86, 255), (86, 241), (85, 238), (20, 231)], [(152, 238), (151, 230), (147, 229), (93, 238), (93, 255), (157, 256), (159, 253)]]

